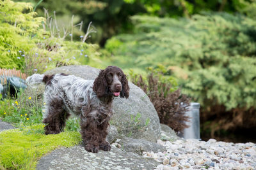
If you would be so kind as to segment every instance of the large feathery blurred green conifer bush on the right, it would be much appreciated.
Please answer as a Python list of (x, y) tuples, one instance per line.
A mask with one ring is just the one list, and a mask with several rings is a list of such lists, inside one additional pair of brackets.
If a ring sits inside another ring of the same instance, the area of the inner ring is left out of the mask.
[(255, 20), (204, 13), (179, 20), (134, 16), (132, 21), (134, 33), (106, 44), (112, 64), (141, 73), (161, 63), (201, 104), (202, 122), (215, 118), (212, 125), (226, 130), (256, 127)]

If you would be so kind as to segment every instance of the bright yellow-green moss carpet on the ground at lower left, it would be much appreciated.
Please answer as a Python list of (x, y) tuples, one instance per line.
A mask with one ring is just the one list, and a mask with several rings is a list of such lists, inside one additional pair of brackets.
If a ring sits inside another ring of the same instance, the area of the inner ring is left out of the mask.
[(47, 152), (64, 146), (77, 145), (79, 132), (44, 134), (44, 125), (35, 124), (0, 133), (0, 167), (6, 169), (35, 169), (36, 161)]

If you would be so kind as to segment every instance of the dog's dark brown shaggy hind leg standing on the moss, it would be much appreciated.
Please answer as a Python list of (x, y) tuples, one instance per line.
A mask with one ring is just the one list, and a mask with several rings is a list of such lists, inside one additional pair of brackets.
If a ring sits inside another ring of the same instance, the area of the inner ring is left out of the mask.
[(64, 130), (65, 123), (70, 114), (63, 107), (61, 99), (52, 99), (47, 105), (47, 115), (43, 120), (45, 134), (58, 134)]

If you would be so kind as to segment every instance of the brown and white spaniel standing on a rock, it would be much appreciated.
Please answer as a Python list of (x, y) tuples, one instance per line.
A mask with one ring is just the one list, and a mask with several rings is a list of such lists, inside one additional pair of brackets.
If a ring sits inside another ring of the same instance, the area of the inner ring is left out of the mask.
[(109, 151), (107, 129), (114, 97), (129, 97), (127, 78), (119, 67), (108, 66), (93, 80), (67, 74), (33, 74), (26, 83), (45, 83), (45, 134), (63, 131), (70, 113), (80, 117), (81, 135), (88, 152)]

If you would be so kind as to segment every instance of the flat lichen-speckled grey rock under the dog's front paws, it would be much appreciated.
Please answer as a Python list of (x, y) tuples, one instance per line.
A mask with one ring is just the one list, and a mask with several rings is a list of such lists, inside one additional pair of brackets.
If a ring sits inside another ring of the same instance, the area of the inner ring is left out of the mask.
[(155, 169), (160, 163), (135, 153), (124, 152), (115, 146), (111, 151), (91, 153), (81, 145), (60, 148), (42, 157), (37, 170), (47, 169)]

